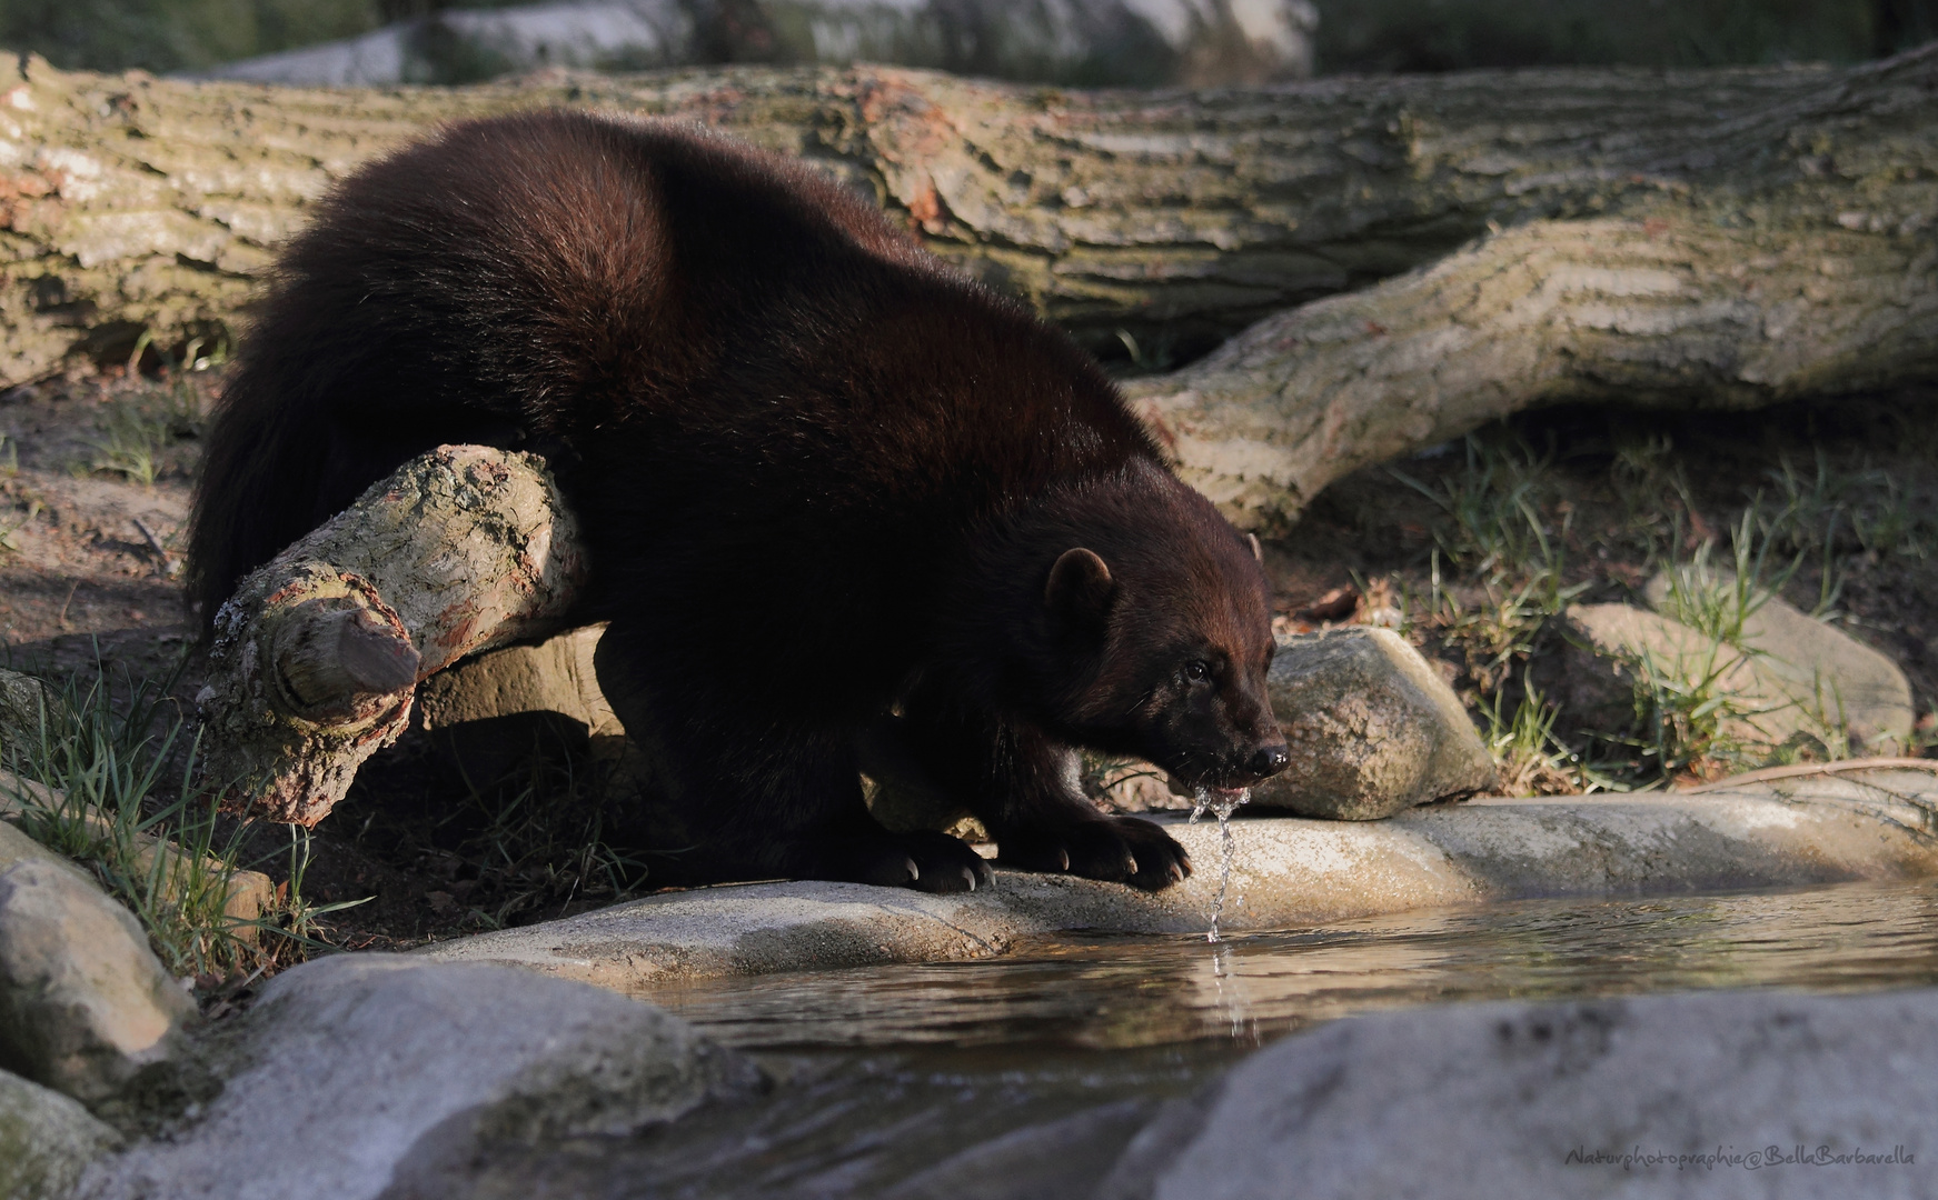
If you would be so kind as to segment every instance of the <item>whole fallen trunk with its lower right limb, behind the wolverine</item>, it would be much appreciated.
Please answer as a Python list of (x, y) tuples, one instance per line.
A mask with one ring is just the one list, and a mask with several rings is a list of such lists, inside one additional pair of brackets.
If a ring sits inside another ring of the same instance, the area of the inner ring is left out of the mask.
[(234, 327), (329, 180), (440, 120), (537, 105), (800, 153), (1147, 366), (1388, 281), (1140, 387), (1186, 472), (1254, 525), (1341, 468), (1543, 399), (1748, 405), (1921, 374), (1938, 346), (1938, 48), (1849, 72), (1202, 93), (888, 68), (390, 91), (23, 70), (0, 79), (0, 381), (143, 329)]

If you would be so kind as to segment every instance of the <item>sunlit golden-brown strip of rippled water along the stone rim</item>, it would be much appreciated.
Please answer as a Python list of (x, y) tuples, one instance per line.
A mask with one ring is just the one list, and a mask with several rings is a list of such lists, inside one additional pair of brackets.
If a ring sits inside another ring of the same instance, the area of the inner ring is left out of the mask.
[(742, 1047), (1256, 1045), (1316, 1020), (1479, 999), (1938, 983), (1938, 885), (1527, 900), (1202, 937), (1064, 937), (990, 962), (643, 993)]

